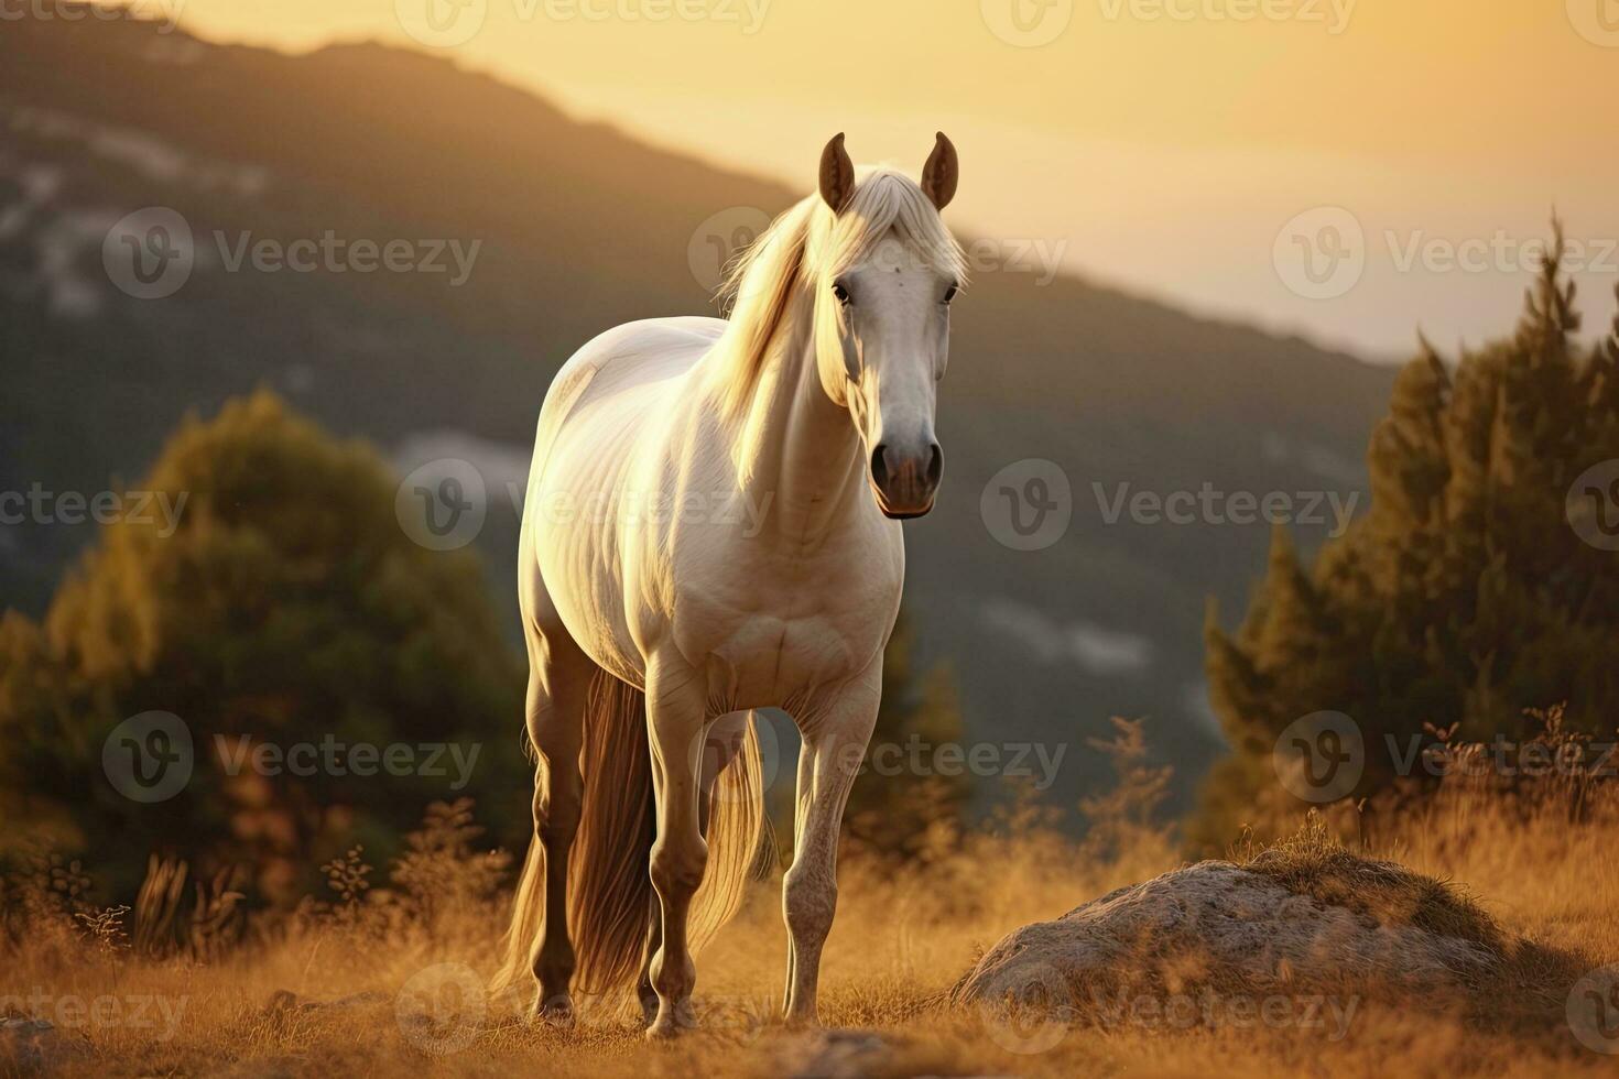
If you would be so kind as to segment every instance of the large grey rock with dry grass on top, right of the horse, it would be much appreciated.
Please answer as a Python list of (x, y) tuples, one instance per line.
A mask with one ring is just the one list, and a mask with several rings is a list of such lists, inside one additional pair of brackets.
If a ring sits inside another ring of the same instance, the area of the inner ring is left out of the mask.
[(952, 998), (1064, 1027), (1328, 1026), (1347, 1024), (1362, 1000), (1465, 998), (1501, 954), (1494, 924), (1446, 885), (1294, 844), (1242, 865), (1198, 862), (1025, 925)]

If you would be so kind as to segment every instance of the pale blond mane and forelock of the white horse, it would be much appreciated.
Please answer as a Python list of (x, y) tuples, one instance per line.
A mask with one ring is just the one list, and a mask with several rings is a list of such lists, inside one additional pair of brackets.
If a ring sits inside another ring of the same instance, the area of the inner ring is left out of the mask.
[(858, 265), (889, 233), (899, 236), (921, 265), (967, 283), (967, 257), (923, 189), (902, 171), (863, 167), (855, 194), (842, 214), (819, 194), (800, 199), (730, 267), (722, 296), (730, 325), (719, 348), (716, 369), (724, 383), (727, 413), (740, 411), (753, 396), (798, 296), (831, 283)]

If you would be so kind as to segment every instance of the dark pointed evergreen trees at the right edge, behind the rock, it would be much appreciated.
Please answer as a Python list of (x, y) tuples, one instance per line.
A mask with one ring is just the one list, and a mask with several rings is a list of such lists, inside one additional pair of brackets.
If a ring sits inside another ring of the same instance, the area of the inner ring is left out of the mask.
[(1391, 743), (1404, 755), (1425, 725), (1522, 739), (1525, 709), (1567, 702), (1570, 728), (1613, 733), (1619, 552), (1582, 534), (1619, 518), (1619, 463), (1613, 487), (1570, 487), (1619, 461), (1619, 328), (1582, 354), (1561, 251), (1559, 230), (1511, 338), (1454, 369), (1423, 341), (1400, 372), (1368, 448), (1366, 516), (1310, 568), (1277, 531), (1234, 634), (1211, 607), (1206, 670), (1234, 757), (1205, 789), (1205, 838), (1229, 841), (1277, 796), (1276, 738), (1315, 712), (1363, 733), (1352, 794), (1394, 781)]

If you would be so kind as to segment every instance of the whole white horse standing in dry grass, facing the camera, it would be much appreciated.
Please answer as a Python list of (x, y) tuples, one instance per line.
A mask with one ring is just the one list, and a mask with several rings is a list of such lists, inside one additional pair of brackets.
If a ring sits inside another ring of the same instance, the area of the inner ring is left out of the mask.
[(696, 1026), (691, 950), (759, 849), (751, 710), (780, 707), (803, 736), (785, 1013), (816, 1019), (839, 825), (905, 578), (899, 519), (928, 513), (942, 468), (955, 184), (942, 133), (920, 186), (856, 176), (839, 134), (819, 197), (733, 270), (729, 320), (609, 330), (546, 395), (518, 586), (534, 841), (495, 979), (533, 972), (536, 1014), (572, 1019), (575, 974), (593, 993), (638, 975), (648, 1037)]

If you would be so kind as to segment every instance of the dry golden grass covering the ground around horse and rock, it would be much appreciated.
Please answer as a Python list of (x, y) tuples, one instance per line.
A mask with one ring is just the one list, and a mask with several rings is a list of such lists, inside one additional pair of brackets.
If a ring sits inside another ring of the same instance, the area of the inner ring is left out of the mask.
[[(1366, 869), (1334, 846), (1321, 820), (1292, 843), (1234, 851), (1302, 893), (1515, 956), (1468, 1014), (1365, 1001), (1336, 1039), (1298, 1026), (1122, 1024), (1059, 1029), (1049, 1048), (1017, 1051), (1018, 1039), (973, 1009), (949, 1008), (945, 995), (1007, 930), (1180, 864), (1171, 833), (1112, 807), (1109, 827), (1090, 843), (1060, 838), (1039, 812), (1025, 809), (926, 864), (847, 861), (822, 964), (822, 1022), (887, 1042), (886, 1050), (843, 1047), (847, 1069), (869, 1074), (1384, 1076), (1392, 1061), (1410, 1076), (1613, 1074), (1619, 1058), (1580, 1047), (1562, 1022), (1561, 996), (1572, 979), (1619, 961), (1619, 817), (1588, 809), (1570, 823), (1566, 814), (1525, 815), (1499, 801), (1433, 802), (1373, 851), (1428, 882)], [(461, 838), (445, 840), (447, 828), (461, 828)], [(476, 984), (460, 985), (465, 971), (440, 964), (489, 974), (504, 925), (504, 864), (470, 853), (463, 815), (440, 810), (431, 831), (439, 838), (413, 844), (413, 857), (387, 885), (348, 888), (346, 899), (306, 908), (209, 961), (185, 950), (136, 958), (121, 941), (118, 914), (74, 924), (50, 896), (13, 895), (13, 911), (26, 908), (29, 922), (21, 933), (13, 922), (0, 956), (0, 996), (11, 998), (3, 1006), (65, 1030), (58, 1042), (73, 1051), (57, 1051), (52, 1066), (68, 1076), (646, 1079), (827, 1066), (827, 1058), (813, 1058), (811, 1035), (772, 1018), (785, 966), (779, 878), (756, 886), (699, 958), (706, 1029), (672, 1047), (648, 1047), (618, 1003), (586, 1001), (580, 1027), (554, 1030), (515, 1022), (505, 1001), (486, 1001)], [(355, 865), (334, 865), (334, 874), (350, 885), (364, 878)], [(28, 893), (28, 883), (13, 882), (10, 891)], [(1532, 943), (1512, 943), (1520, 935)], [(73, 1013), (73, 1001), (84, 1001), (86, 1011)]]

